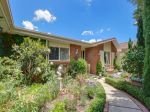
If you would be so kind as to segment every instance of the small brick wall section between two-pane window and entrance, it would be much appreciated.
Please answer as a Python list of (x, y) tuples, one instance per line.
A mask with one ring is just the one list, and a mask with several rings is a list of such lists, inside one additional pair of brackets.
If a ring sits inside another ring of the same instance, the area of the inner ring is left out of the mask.
[[(76, 51), (78, 50), (78, 54), (76, 55)], [(78, 59), (81, 57), (81, 46), (70, 44), (70, 58)]]

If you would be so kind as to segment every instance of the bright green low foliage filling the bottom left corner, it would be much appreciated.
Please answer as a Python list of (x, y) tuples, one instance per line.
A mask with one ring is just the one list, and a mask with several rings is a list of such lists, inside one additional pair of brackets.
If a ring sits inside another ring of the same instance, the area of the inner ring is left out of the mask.
[(46, 101), (56, 98), (57, 81), (44, 85), (14, 87), (12, 82), (0, 82), (0, 109), (4, 112), (38, 112)]

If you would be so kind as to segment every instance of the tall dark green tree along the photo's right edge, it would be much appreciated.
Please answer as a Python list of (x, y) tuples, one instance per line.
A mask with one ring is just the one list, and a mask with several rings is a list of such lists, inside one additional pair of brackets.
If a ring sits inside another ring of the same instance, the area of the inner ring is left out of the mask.
[(150, 96), (150, 0), (144, 0), (144, 36), (145, 36), (145, 62), (144, 62), (144, 93)]

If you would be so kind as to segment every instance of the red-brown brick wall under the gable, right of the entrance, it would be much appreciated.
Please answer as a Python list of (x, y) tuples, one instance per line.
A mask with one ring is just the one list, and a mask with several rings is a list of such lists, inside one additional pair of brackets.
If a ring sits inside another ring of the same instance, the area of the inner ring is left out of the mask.
[(103, 50), (103, 45), (85, 49), (85, 59), (90, 64), (90, 73), (96, 74), (96, 63), (100, 60), (99, 51)]

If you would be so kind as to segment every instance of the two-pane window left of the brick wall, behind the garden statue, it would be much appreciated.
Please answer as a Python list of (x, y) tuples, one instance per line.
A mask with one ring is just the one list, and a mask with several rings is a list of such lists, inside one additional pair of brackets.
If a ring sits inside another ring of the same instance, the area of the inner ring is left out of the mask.
[(69, 48), (51, 47), (49, 60), (69, 60)]

